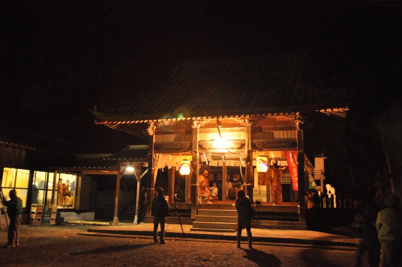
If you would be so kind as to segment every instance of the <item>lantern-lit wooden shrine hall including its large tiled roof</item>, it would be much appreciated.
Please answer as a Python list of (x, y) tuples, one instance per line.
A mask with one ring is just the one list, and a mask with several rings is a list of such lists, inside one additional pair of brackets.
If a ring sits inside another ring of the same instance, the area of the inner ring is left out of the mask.
[[(348, 110), (339, 90), (317, 88), (317, 81), (304, 79), (312, 71), (304, 60), (304, 55), (288, 55), (179, 64), (157, 96), (93, 110), (95, 122), (133, 135), (148, 134), (147, 188), (160, 186), (159, 172), (166, 169), (168, 181), (163, 187), (169, 202), (179, 175), (176, 166), (189, 159), (192, 171), (184, 178), (184, 200), (179, 204), (191, 210), (191, 218), (200, 204), (233, 201), (228, 175), (239, 174), (229, 174), (230, 168), (239, 170), (248, 196), (256, 200), (256, 158), (286, 162), (285, 152), (295, 153), (298, 197), (273, 208), (298, 206), (299, 221), (304, 221), (303, 196), (309, 179), (305, 174), (305, 115), (324, 112), (345, 117)], [(199, 198), (198, 176), (206, 168), (214, 171), (214, 181), (221, 182), (218, 198)], [(262, 206), (272, 207), (266, 195)]]

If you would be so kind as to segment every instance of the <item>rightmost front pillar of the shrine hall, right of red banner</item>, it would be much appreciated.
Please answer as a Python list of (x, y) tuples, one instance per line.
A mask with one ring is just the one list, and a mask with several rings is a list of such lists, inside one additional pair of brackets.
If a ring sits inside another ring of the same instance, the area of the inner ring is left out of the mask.
[[(305, 152), (303, 138), (303, 122), (296, 121), (297, 128), (297, 186), (298, 186), (298, 205), (299, 205), (299, 221), (306, 221), (306, 203), (305, 192), (306, 174), (305, 174)], [(307, 180), (308, 182), (308, 180)]]

